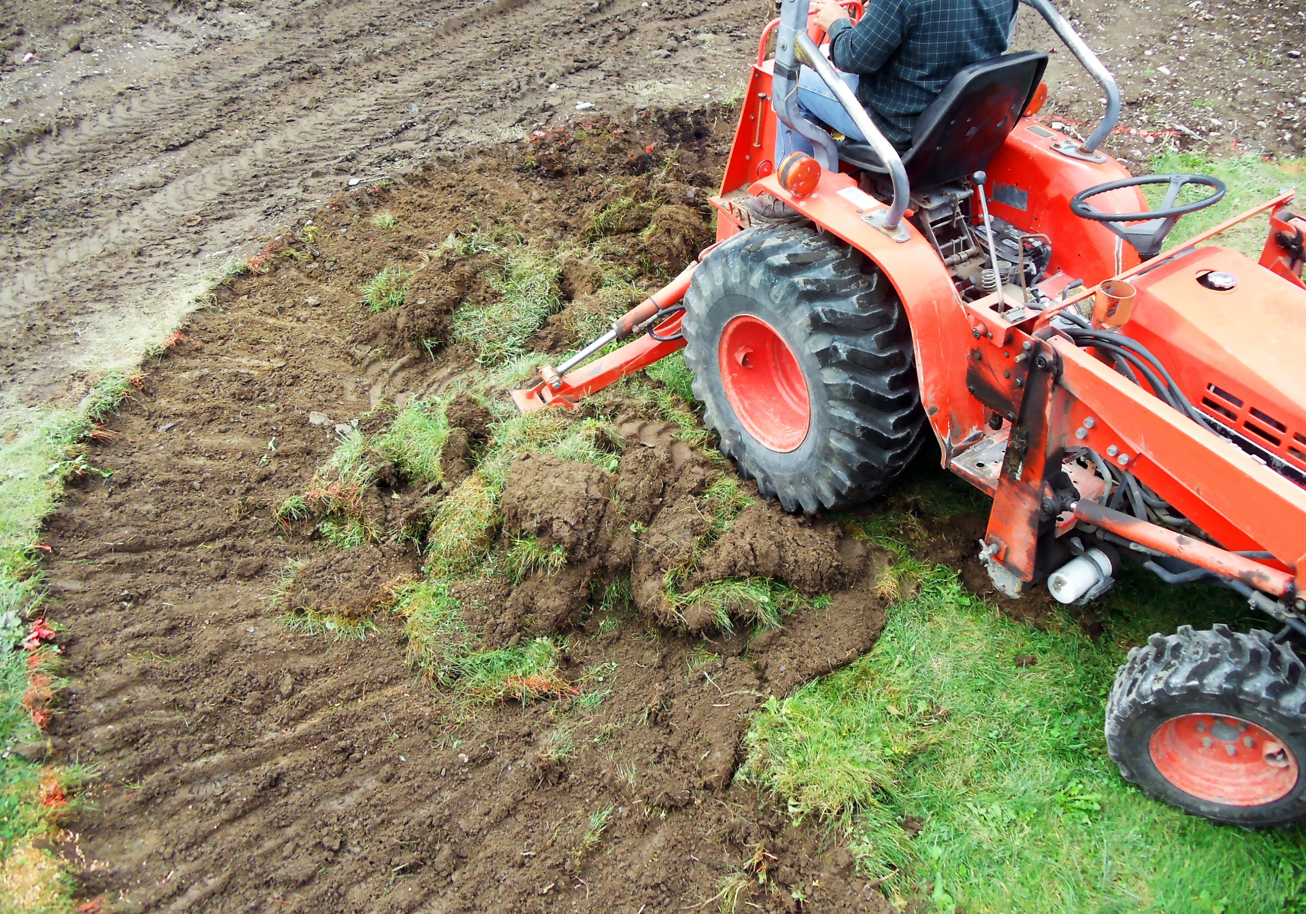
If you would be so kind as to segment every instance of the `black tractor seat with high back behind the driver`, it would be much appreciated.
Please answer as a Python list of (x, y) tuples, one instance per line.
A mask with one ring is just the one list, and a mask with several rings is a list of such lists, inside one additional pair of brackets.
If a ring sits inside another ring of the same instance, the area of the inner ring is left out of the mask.
[[(912, 189), (949, 184), (986, 168), (1007, 141), (1047, 67), (1040, 51), (1004, 54), (970, 64), (921, 112), (912, 146), (902, 153)], [(852, 166), (888, 174), (865, 142), (842, 140), (838, 157)]]

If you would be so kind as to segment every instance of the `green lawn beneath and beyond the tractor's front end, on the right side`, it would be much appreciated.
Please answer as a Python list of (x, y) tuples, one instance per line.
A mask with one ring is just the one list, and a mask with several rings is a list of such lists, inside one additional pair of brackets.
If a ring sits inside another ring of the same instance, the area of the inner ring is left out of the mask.
[[(1306, 183), (1302, 161), (1175, 154), (1155, 170), (1229, 185), (1171, 243)], [(1259, 256), (1266, 227), (1262, 215), (1221, 242)], [(908, 500), (939, 518), (987, 509), (925, 464), (896, 488), (893, 501)], [(742, 778), (795, 820), (828, 823), (891, 898), (925, 910), (1306, 911), (1306, 827), (1251, 832), (1186, 816), (1123, 781), (1106, 755), (1102, 712), (1128, 648), (1185, 623), (1264, 627), (1232, 593), (1126, 573), (1096, 605), (1105, 632), (1093, 641), (1070, 615), (1049, 631), (1013, 622), (955, 569), (918, 563), (909, 514), (861, 526), (899, 555), (899, 576), (916, 585), (905, 593), (916, 591), (892, 606), (871, 653), (764, 708)]]

